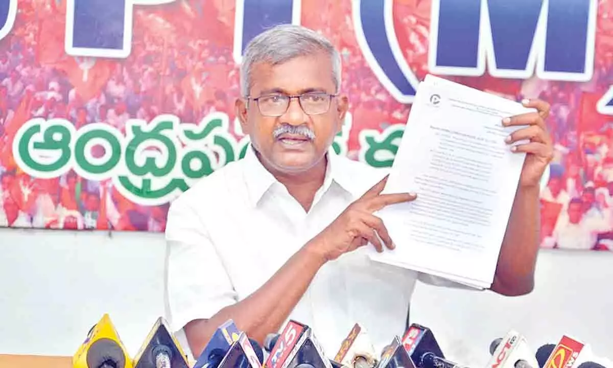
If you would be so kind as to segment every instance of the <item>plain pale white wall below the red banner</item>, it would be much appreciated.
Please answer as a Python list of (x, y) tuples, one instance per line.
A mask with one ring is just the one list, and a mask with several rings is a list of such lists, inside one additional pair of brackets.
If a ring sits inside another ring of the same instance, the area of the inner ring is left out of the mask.
[[(162, 234), (0, 229), (0, 353), (72, 355), (106, 312), (134, 355), (164, 313), (164, 253)], [(419, 285), (412, 319), (473, 367), (509, 328), (535, 349), (570, 332), (604, 353), (613, 346), (612, 264), (613, 253), (542, 251), (529, 296)]]

